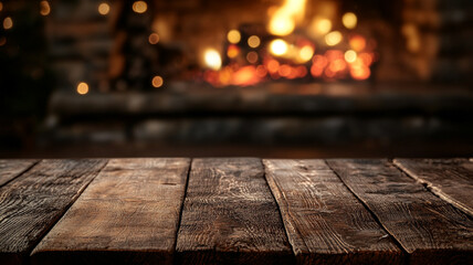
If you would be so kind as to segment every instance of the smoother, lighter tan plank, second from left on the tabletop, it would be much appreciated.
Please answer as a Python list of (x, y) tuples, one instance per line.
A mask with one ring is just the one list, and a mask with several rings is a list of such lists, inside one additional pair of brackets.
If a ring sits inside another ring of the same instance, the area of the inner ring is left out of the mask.
[(112, 159), (34, 248), (34, 264), (172, 264), (190, 160)]

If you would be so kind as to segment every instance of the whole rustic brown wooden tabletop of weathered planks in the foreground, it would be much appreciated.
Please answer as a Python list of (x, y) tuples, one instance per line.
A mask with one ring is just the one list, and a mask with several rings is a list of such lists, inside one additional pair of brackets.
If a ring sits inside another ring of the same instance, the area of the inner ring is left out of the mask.
[(0, 264), (473, 264), (473, 161), (0, 160)]

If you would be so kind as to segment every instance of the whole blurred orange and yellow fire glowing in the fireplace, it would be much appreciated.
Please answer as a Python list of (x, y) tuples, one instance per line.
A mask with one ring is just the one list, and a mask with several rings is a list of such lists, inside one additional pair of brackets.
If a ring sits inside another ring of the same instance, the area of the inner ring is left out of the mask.
[(302, 26), (305, 3), (306, 0), (285, 0), (282, 7), (269, 11), (269, 34), (255, 35), (245, 28), (241, 28), (242, 32), (228, 31), (224, 57), (214, 49), (204, 52), (208, 70), (203, 80), (217, 87), (272, 80), (368, 80), (378, 60), (376, 42), (356, 31), (357, 15), (347, 12), (336, 21), (336, 12), (319, 12), (307, 21), (306, 30), (295, 31)]

